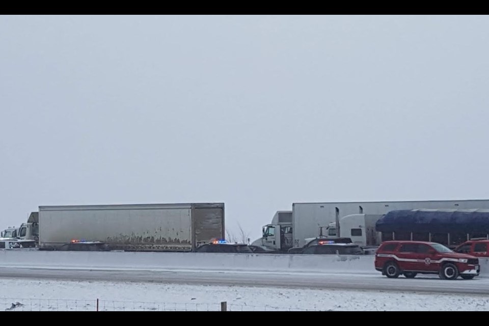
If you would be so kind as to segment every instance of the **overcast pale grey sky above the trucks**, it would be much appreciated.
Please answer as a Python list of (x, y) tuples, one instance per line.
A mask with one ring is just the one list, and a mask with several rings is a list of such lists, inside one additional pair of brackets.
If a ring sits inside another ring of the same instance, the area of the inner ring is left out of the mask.
[(39, 205), (487, 199), (488, 16), (0, 16), (0, 229)]

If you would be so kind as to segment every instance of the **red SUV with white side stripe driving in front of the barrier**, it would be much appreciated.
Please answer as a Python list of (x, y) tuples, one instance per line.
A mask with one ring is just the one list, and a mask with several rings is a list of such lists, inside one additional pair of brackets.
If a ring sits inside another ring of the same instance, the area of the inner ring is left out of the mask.
[(458, 276), (473, 279), (480, 273), (479, 259), (455, 253), (440, 243), (423, 241), (385, 241), (375, 252), (375, 269), (388, 278), (404, 275), (438, 274), (441, 279)]

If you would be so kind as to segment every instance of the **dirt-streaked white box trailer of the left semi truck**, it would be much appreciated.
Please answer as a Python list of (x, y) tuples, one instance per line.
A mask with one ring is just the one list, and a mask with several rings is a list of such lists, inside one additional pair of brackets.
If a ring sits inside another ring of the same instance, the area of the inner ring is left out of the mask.
[(223, 203), (39, 207), (40, 250), (85, 240), (113, 250), (186, 252), (224, 236)]

